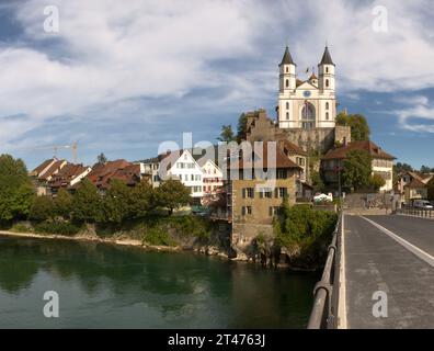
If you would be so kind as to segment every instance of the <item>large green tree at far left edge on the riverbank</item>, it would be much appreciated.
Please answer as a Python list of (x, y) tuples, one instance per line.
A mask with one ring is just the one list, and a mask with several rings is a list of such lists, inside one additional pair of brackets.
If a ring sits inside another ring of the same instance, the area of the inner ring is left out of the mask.
[(33, 203), (34, 188), (21, 159), (0, 156), (0, 222), (25, 218)]

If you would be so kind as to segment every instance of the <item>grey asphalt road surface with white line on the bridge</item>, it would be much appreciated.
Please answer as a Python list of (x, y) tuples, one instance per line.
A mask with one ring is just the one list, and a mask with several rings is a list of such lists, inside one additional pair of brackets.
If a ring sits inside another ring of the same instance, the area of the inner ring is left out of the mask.
[(344, 230), (347, 328), (434, 328), (434, 220), (346, 215)]

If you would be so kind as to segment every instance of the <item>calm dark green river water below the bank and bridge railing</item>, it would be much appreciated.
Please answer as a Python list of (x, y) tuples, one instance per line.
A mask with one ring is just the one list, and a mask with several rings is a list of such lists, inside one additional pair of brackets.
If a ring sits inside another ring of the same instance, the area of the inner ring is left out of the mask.
[[(305, 328), (317, 273), (0, 237), (0, 328)], [(44, 316), (44, 293), (59, 317)]]

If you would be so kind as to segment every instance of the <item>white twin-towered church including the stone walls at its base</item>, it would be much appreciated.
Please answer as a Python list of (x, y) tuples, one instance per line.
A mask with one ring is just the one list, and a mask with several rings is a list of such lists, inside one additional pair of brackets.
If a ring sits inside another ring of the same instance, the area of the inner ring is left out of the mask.
[(285, 48), (278, 65), (276, 118), (266, 111), (248, 112), (249, 141), (288, 140), (305, 151), (327, 152), (336, 144), (351, 143), (349, 126), (336, 125), (335, 64), (326, 46), (315, 72), (307, 80), (297, 76), (297, 65)]

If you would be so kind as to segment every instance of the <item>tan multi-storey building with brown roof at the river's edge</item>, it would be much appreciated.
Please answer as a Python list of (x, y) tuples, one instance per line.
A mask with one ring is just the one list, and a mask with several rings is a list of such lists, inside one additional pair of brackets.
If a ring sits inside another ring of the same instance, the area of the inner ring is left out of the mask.
[(210, 205), (212, 218), (231, 223), (232, 242), (250, 245), (260, 234), (273, 235), (273, 218), (284, 199), (296, 203), (301, 167), (290, 160), (282, 144), (265, 141), (259, 149), (232, 151), (220, 196)]

